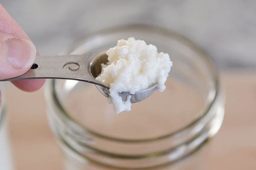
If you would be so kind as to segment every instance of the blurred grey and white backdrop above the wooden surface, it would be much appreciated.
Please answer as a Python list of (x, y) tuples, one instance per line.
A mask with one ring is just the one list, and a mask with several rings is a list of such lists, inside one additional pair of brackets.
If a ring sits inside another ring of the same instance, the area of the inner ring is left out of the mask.
[(129, 23), (165, 27), (204, 48), (219, 68), (256, 65), (254, 0), (1, 0), (41, 55)]

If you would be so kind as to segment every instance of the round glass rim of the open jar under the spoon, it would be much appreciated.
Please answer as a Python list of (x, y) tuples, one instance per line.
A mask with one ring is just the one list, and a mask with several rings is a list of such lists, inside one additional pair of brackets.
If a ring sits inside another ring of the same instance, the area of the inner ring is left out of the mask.
[(72, 116), (70, 116), (70, 114), (68, 113), (68, 111), (65, 110), (65, 108), (61, 104), (61, 101), (58, 99), (58, 94), (55, 91), (55, 83), (56, 83), (57, 80), (54, 80), (54, 79), (53, 80), (48, 80), (48, 82), (47, 82), (48, 83), (48, 89), (46, 90), (46, 97), (50, 98), (50, 101), (52, 101), (52, 105), (54, 105), (55, 108), (58, 110), (58, 117), (61, 119), (61, 121), (65, 125), (67, 125), (73, 132), (79, 133), (79, 134), (90, 133), (93, 136), (103, 138), (103, 139), (107, 139), (107, 140), (111, 140), (111, 141), (116, 141), (116, 142), (128, 142), (128, 143), (136, 142), (137, 143), (137, 142), (158, 141), (160, 139), (166, 139), (166, 138), (175, 136), (177, 134), (183, 133), (186, 130), (194, 127), (198, 122), (200, 122), (202, 119), (204, 119), (205, 116), (207, 116), (207, 113), (212, 108), (212, 105), (215, 103), (217, 97), (219, 96), (220, 83), (219, 83), (219, 79), (218, 79), (218, 72), (217, 72), (217, 69), (215, 68), (214, 63), (212, 62), (212, 60), (209, 57), (207, 57), (207, 54), (204, 51), (202, 51), (197, 45), (195, 45), (194, 42), (192, 42), (191, 40), (189, 40), (188, 38), (184, 37), (181, 34), (166, 30), (165, 28), (159, 28), (159, 27), (155, 27), (155, 26), (128, 25), (128, 26), (122, 26), (122, 27), (119, 27), (119, 28), (109, 28), (109, 29), (105, 29), (103, 31), (98, 31), (96, 33), (88, 35), (84, 39), (90, 39), (90, 37), (94, 37), (95, 35), (101, 35), (101, 34), (105, 34), (105, 33), (108, 33), (108, 32), (119, 31), (119, 30), (129, 30), (131, 28), (145, 29), (145, 30), (149, 30), (149, 31), (152, 31), (152, 32), (157, 32), (157, 34), (164, 34), (164, 35), (167, 35), (167, 36), (171, 35), (171, 37), (176, 37), (177, 39), (179, 39), (179, 41), (181, 41), (182, 43), (185, 43), (190, 48), (192, 48), (193, 50), (197, 51), (200, 54), (200, 57), (202, 58), (202, 61), (204, 61), (205, 66), (207, 67), (207, 69), (209, 70), (209, 73), (211, 74), (212, 82), (213, 82), (213, 89), (212, 89), (212, 91), (208, 92), (208, 95), (209, 95), (209, 93), (211, 93), (210, 94), (211, 97), (207, 101), (206, 105), (204, 106), (204, 110), (201, 111), (199, 116), (196, 117), (195, 119), (193, 119), (192, 122), (189, 122), (187, 125), (179, 128), (178, 130), (176, 130), (174, 132), (171, 132), (171, 133), (168, 133), (168, 134), (165, 134), (165, 135), (161, 135), (161, 136), (157, 136), (157, 137), (153, 137), (153, 138), (122, 139), (122, 138), (107, 136), (107, 135), (104, 135), (102, 133), (95, 132), (95, 131), (91, 130), (90, 128), (82, 126), (79, 122), (77, 122), (75, 119), (73, 119)]

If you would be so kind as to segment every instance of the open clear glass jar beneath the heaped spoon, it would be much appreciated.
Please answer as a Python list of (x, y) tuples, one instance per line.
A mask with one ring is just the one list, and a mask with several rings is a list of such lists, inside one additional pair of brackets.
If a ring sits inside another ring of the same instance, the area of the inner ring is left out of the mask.
[(166, 90), (116, 115), (95, 85), (49, 80), (45, 88), (49, 125), (67, 162), (73, 162), (67, 169), (172, 163), (193, 153), (221, 127), (224, 100), (215, 65), (180, 34), (152, 26), (123, 26), (84, 37), (61, 54), (102, 53), (128, 37), (145, 40), (170, 55), (173, 67)]

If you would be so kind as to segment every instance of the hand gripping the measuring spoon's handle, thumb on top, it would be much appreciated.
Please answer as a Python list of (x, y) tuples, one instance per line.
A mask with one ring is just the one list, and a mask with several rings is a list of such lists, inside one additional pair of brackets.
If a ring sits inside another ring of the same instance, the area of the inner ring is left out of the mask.
[[(0, 4), (0, 79), (24, 74), (33, 64), (36, 55), (35, 45)], [(12, 83), (23, 91), (36, 91), (44, 85), (44, 81), (33, 79)]]

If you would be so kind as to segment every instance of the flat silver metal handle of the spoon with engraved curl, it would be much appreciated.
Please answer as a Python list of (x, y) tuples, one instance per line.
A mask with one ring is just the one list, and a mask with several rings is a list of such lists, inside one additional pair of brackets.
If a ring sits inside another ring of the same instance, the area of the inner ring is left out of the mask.
[[(37, 56), (32, 67), (25, 74), (11, 79), (74, 79), (99, 84), (90, 74), (91, 57), (85, 54), (64, 56)], [(102, 86), (102, 85), (101, 85)]]

